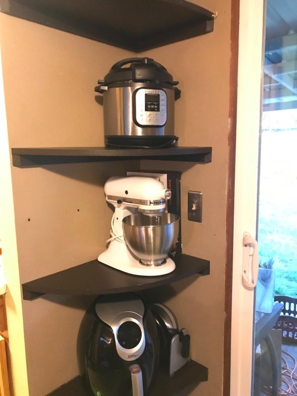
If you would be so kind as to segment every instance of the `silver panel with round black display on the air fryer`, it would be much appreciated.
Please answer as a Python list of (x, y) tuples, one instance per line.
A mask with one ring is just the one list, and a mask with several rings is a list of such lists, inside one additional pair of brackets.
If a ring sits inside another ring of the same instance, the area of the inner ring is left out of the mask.
[(112, 328), (118, 355), (127, 361), (139, 358), (146, 346), (142, 300), (131, 294), (101, 297), (95, 309), (99, 318)]

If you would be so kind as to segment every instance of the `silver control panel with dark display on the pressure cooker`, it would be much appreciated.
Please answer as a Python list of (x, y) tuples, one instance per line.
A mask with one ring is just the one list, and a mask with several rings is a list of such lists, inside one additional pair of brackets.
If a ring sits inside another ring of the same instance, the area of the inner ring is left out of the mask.
[(163, 126), (167, 121), (167, 95), (163, 90), (140, 88), (135, 95), (135, 118), (140, 126)]

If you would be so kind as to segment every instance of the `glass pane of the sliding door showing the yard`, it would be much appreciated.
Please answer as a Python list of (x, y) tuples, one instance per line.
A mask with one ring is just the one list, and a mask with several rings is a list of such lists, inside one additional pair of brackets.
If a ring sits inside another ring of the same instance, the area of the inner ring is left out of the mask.
[(296, 0), (267, 0), (260, 142), (252, 391), (297, 395)]

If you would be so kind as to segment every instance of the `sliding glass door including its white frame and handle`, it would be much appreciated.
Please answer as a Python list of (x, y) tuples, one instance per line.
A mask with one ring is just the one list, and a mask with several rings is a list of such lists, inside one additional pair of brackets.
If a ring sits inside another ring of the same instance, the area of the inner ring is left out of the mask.
[(297, 395), (296, 53), (297, 1), (241, 0), (231, 396)]

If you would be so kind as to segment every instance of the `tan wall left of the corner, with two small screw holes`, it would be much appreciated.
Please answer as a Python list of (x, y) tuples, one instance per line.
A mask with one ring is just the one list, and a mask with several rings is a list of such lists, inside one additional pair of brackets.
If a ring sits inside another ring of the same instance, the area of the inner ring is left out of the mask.
[[(103, 146), (94, 87), (113, 63), (135, 54), (3, 14), (0, 40), (10, 147)], [(103, 184), (136, 165), (12, 168), (20, 283), (97, 257), (111, 218)], [(22, 303), (29, 394), (44, 396), (78, 373), (76, 337), (90, 299), (9, 297), (8, 311), (9, 301)], [(24, 369), (17, 361), (13, 369), (15, 395), (23, 396)]]

